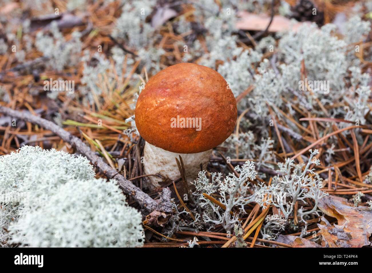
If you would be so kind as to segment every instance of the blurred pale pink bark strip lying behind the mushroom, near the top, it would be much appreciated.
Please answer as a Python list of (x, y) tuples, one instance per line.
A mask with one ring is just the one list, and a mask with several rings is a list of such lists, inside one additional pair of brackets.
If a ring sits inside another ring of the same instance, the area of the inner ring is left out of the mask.
[[(242, 30), (263, 31), (270, 22), (270, 16), (267, 16), (266, 14), (254, 14), (240, 11), (238, 12), (238, 16), (239, 20), (236, 23), (236, 27)], [(292, 24), (290, 19), (280, 15), (275, 15), (268, 31), (280, 32), (290, 29), (295, 31), (298, 27), (304, 24), (310, 25), (310, 22), (295, 22)]]

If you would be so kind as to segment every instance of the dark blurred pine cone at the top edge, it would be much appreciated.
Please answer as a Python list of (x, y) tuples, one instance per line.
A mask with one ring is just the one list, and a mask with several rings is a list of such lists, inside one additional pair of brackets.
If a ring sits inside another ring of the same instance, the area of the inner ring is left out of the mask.
[[(314, 8), (316, 9), (316, 14), (313, 14)], [(299, 0), (296, 6), (291, 7), (291, 11), (291, 17), (299, 22), (311, 21), (317, 23), (318, 26), (323, 25), (324, 13), (318, 10), (310, 0)]]

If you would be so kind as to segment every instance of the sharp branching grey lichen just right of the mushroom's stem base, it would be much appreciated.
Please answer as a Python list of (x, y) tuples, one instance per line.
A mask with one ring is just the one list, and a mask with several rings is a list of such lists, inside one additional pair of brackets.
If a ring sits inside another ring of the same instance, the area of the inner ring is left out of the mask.
[[(318, 150), (310, 150), (308, 163), (295, 164), (294, 160), (286, 159), (285, 163), (278, 163), (278, 167), (283, 176), (275, 176), (270, 186), (265, 183), (253, 184), (257, 176), (254, 162), (247, 161), (242, 166), (236, 166), (235, 171), (240, 174), (239, 177), (230, 173), (223, 178), (222, 173), (211, 173), (211, 178), (207, 178), (206, 172), (199, 172), (199, 177), (193, 182), (195, 191), (192, 193), (195, 209), (192, 210), (196, 220), (189, 225), (200, 228), (213, 228), (221, 224), (227, 232), (231, 232), (234, 224), (242, 224), (239, 217), (246, 214), (244, 206), (255, 202), (265, 208), (273, 205), (277, 208), (278, 214), (268, 215), (265, 224), (260, 231), (264, 239), (273, 240), (288, 225), (289, 217), (294, 216), (294, 205), (297, 201), (307, 204), (307, 198), (314, 202), (312, 209), (299, 207), (297, 217), (299, 222), (303, 222), (301, 236), (307, 233), (307, 220), (310, 215), (318, 214), (318, 201), (327, 193), (321, 191), (323, 188), (322, 179), (314, 173), (314, 169), (309, 169), (312, 164), (319, 165), (318, 159), (313, 160), (318, 154)], [(314, 175), (314, 177), (309, 176)], [(251, 189), (251, 190), (249, 190)], [(212, 203), (204, 194), (218, 194), (216, 198), (226, 209)], [(235, 208), (233, 215), (230, 214), (232, 208)], [(187, 225), (187, 224), (186, 224)], [(184, 224), (184, 226), (186, 226)], [(179, 230), (187, 230), (187, 227), (179, 227)]]

